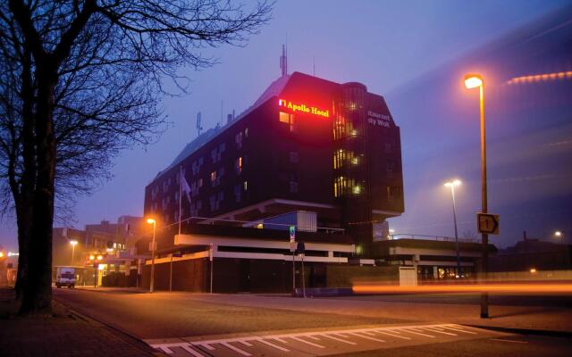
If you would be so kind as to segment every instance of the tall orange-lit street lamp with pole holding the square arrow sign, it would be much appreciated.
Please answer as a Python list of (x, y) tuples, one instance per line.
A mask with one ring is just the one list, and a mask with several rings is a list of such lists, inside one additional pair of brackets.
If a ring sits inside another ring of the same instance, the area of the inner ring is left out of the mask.
[[(484, 130), (484, 80), (478, 74), (467, 74), (465, 76), (465, 87), (467, 89), (479, 88), (479, 108), (481, 112), (481, 201), (483, 204), (482, 212), (486, 213), (487, 210), (487, 190), (486, 190), (486, 135)], [(481, 272), (486, 279), (489, 270), (489, 235), (483, 233), (483, 263)], [(481, 318), (486, 319), (489, 317), (489, 295), (484, 292), (481, 294)]]

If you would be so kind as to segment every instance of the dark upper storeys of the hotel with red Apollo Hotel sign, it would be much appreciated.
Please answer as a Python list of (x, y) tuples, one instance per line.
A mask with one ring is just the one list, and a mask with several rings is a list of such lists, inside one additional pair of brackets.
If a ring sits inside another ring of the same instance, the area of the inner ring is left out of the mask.
[[(284, 75), (223, 128), (191, 142), (145, 190), (158, 227), (181, 219), (260, 220), (305, 210), (371, 252), (374, 225), (404, 211), (400, 129), (380, 95)], [(184, 229), (188, 226), (183, 225)]]

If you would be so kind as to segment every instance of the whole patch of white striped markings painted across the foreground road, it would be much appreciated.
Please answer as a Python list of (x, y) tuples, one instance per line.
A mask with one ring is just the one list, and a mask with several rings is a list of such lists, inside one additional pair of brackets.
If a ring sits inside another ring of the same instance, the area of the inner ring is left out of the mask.
[[(472, 329), (472, 330), (471, 330)], [(477, 331), (480, 331), (477, 333)], [(480, 330), (478, 328), (467, 328), (456, 324), (427, 324), (427, 325), (406, 325), (406, 326), (376, 326), (370, 328), (349, 328), (340, 330), (310, 331), (282, 333), (276, 335), (253, 335), (228, 338), (214, 339), (197, 339), (197, 337), (189, 337), (175, 342), (147, 342), (157, 350), (167, 353), (186, 355), (192, 357), (207, 357), (211, 355), (229, 356), (229, 357), (255, 357), (255, 356), (274, 356), (274, 355), (298, 355), (298, 353), (306, 353), (307, 355), (315, 355), (315, 349), (321, 349), (324, 353), (340, 353), (340, 351), (365, 351), (372, 348), (391, 348), (391, 346), (399, 346), (403, 344), (424, 344), (429, 343), (427, 338), (441, 338), (438, 341), (453, 341), (461, 338), (478, 338), (459, 336), (468, 335), (488, 335), (488, 336), (507, 336), (499, 332), (490, 332)], [(436, 335), (436, 336), (435, 336)], [(379, 338), (383, 336), (384, 339)], [(366, 341), (370, 341), (366, 343)], [(399, 341), (401, 340), (401, 341)], [(155, 340), (156, 341), (156, 340)], [(171, 340), (173, 341), (173, 340)], [(374, 345), (372, 345), (375, 343)], [(266, 349), (262, 349), (263, 346)], [(286, 346), (291, 346), (286, 348)], [(337, 347), (335, 347), (337, 345)], [(346, 347), (341, 347), (346, 345)], [(378, 345), (379, 347), (375, 347)], [(177, 350), (179, 348), (179, 350)], [(268, 350), (270, 348), (270, 350)], [(332, 349), (333, 348), (333, 349)], [(340, 348), (343, 348), (340, 350)]]

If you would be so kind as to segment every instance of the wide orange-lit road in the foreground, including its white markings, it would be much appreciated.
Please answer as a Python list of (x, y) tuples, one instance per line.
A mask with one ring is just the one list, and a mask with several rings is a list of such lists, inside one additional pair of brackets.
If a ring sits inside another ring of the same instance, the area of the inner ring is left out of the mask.
[(572, 349), (564, 338), (359, 312), (361, 305), (348, 300), (80, 289), (56, 289), (54, 296), (173, 356), (564, 356)]

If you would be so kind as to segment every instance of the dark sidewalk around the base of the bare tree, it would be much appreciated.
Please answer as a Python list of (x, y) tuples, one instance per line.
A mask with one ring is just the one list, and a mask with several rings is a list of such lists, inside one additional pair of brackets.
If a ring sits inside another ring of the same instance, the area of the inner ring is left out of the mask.
[(54, 317), (19, 318), (13, 290), (0, 288), (0, 354), (3, 356), (159, 356), (147, 345), (63, 305)]

